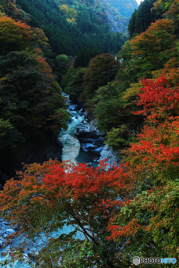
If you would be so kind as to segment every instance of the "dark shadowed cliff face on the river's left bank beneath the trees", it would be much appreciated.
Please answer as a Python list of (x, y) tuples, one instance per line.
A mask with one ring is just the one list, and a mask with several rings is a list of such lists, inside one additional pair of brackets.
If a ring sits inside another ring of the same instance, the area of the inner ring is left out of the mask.
[(32, 141), (24, 144), (23, 153), (20, 157), (14, 158), (9, 152), (0, 155), (0, 184), (16, 176), (16, 170), (22, 170), (23, 165), (48, 161), (49, 158), (57, 158), (61, 161), (63, 144), (57, 139), (57, 135), (49, 136), (45, 140)]

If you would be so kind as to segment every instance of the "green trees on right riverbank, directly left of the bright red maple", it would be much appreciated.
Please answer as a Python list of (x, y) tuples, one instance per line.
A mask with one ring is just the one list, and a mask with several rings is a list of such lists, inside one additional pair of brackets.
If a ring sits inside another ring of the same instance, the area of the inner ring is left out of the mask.
[(141, 85), (138, 83), (137, 85), (131, 84), (131, 86), (129, 90), (123, 91), (118, 81), (108, 83), (98, 88), (90, 102), (98, 126), (103, 131), (109, 131), (106, 140), (115, 150), (134, 142), (138, 126), (143, 122), (142, 116), (134, 116), (131, 112), (138, 110), (135, 104), (136, 92), (139, 91)]

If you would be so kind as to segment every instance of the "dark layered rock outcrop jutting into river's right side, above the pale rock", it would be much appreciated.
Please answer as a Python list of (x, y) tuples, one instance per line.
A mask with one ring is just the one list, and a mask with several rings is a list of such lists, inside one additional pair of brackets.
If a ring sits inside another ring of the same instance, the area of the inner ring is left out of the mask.
[(84, 113), (84, 125), (76, 128), (75, 136), (83, 151), (100, 153), (104, 147), (104, 132), (97, 128), (97, 121), (91, 120), (87, 112)]

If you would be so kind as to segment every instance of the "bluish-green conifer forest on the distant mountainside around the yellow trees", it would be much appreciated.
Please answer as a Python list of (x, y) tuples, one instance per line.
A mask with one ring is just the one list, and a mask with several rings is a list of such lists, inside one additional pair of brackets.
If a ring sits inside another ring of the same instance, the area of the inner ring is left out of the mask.
[[(55, 57), (60, 54), (75, 56), (81, 45), (91, 50), (100, 48), (103, 53), (110, 53), (113, 50), (114, 53), (118, 53), (121, 49), (120, 42), (123, 44), (126, 39), (125, 36), (121, 36), (119, 42), (119, 34), (109, 31), (110, 26), (105, 12), (98, 12), (93, 5), (89, 8), (88, 2), (83, 4), (77, 2), (78, 5), (75, 6), (78, 13), (76, 27), (72, 21), (67, 22), (68, 16), (60, 10), (54, 0), (17, 0), (16, 4), (31, 14), (32, 27), (42, 28)], [(65, 4), (76, 17), (74, 7), (66, 2)]]

